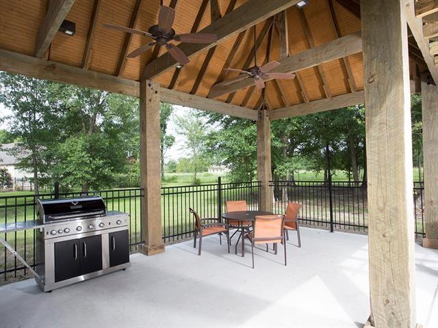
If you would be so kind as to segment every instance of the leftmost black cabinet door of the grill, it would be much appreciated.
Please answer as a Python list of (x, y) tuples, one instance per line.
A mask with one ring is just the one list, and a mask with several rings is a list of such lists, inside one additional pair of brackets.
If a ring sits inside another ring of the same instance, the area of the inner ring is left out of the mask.
[(55, 243), (55, 282), (80, 275), (79, 239)]

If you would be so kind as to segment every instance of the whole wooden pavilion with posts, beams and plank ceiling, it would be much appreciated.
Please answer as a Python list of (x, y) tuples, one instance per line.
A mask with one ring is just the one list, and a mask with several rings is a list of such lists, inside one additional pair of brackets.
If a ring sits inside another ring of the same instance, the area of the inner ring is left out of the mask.
[[(178, 44), (127, 55), (161, 2), (179, 33), (214, 33), (211, 44)], [(270, 121), (365, 103), (368, 161), (370, 324), (415, 327), (410, 94), (422, 92), (426, 238), (438, 248), (437, 0), (0, 0), (0, 70), (140, 97), (144, 253), (164, 251), (159, 180), (159, 102), (257, 122), (261, 208), (270, 208)], [(360, 3), (359, 3), (360, 2)], [(58, 32), (64, 20), (75, 33)], [(266, 97), (252, 79), (231, 85), (225, 68), (279, 61)], [(266, 105), (263, 105), (265, 104)]]

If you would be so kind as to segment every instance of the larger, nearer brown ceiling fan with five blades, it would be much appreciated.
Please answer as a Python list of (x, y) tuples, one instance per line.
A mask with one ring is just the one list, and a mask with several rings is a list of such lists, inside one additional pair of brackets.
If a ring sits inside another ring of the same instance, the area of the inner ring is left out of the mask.
[(117, 31), (139, 34), (140, 36), (146, 36), (154, 40), (153, 42), (149, 42), (140, 46), (140, 48), (134, 50), (132, 53), (129, 53), (127, 57), (137, 57), (138, 55), (141, 55), (145, 51), (151, 49), (151, 47), (153, 47), (155, 44), (159, 44), (160, 46), (166, 46), (168, 53), (173, 57), (173, 59), (178, 61), (181, 66), (188, 64), (189, 59), (185, 53), (181, 51), (181, 49), (175, 46), (175, 44), (170, 43), (171, 40), (188, 43), (212, 43), (218, 40), (216, 34), (209, 33), (175, 34), (175, 29), (172, 29), (174, 19), (175, 10), (162, 5), (159, 8), (158, 24), (149, 27), (148, 32), (114, 24), (104, 24), (103, 26), (109, 29), (116, 29)]

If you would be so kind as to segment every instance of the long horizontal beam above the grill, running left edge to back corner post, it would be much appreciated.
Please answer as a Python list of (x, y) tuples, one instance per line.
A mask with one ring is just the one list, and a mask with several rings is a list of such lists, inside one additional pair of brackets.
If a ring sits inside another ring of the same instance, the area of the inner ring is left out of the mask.
[[(140, 96), (140, 83), (137, 81), (92, 72), (90, 70), (83, 70), (82, 68), (1, 49), (0, 70), (16, 74), (25, 74), (29, 77), (36, 77), (37, 79), (49, 79), (114, 92), (116, 94), (126, 94), (127, 96), (137, 98)], [(229, 105), (224, 102), (193, 96), (175, 90), (168, 90), (166, 88), (161, 88), (160, 92), (161, 100), (170, 104), (193, 107), (203, 111), (212, 111), (214, 113), (222, 113), (238, 118), (257, 120), (257, 111), (253, 111), (253, 109)]]

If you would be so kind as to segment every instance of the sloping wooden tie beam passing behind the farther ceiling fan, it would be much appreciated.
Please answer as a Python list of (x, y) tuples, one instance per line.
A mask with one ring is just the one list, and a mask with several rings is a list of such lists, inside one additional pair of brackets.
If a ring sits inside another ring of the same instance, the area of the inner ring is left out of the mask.
[[(281, 59), (280, 66), (276, 67), (272, 72), (297, 72), (305, 70), (313, 66), (318, 66), (322, 63), (333, 61), (348, 55), (354, 55), (362, 51), (361, 32), (352, 33), (349, 36), (344, 36), (337, 40), (333, 40), (320, 46), (315, 46), (313, 49), (302, 51), (296, 55), (291, 55), (288, 58)], [(264, 78), (264, 81), (270, 81), (269, 78)], [(231, 85), (223, 85), (218, 83), (211, 87), (208, 98), (216, 98), (222, 94), (235, 92), (254, 85), (253, 79), (245, 79), (243, 81), (233, 83)]]

